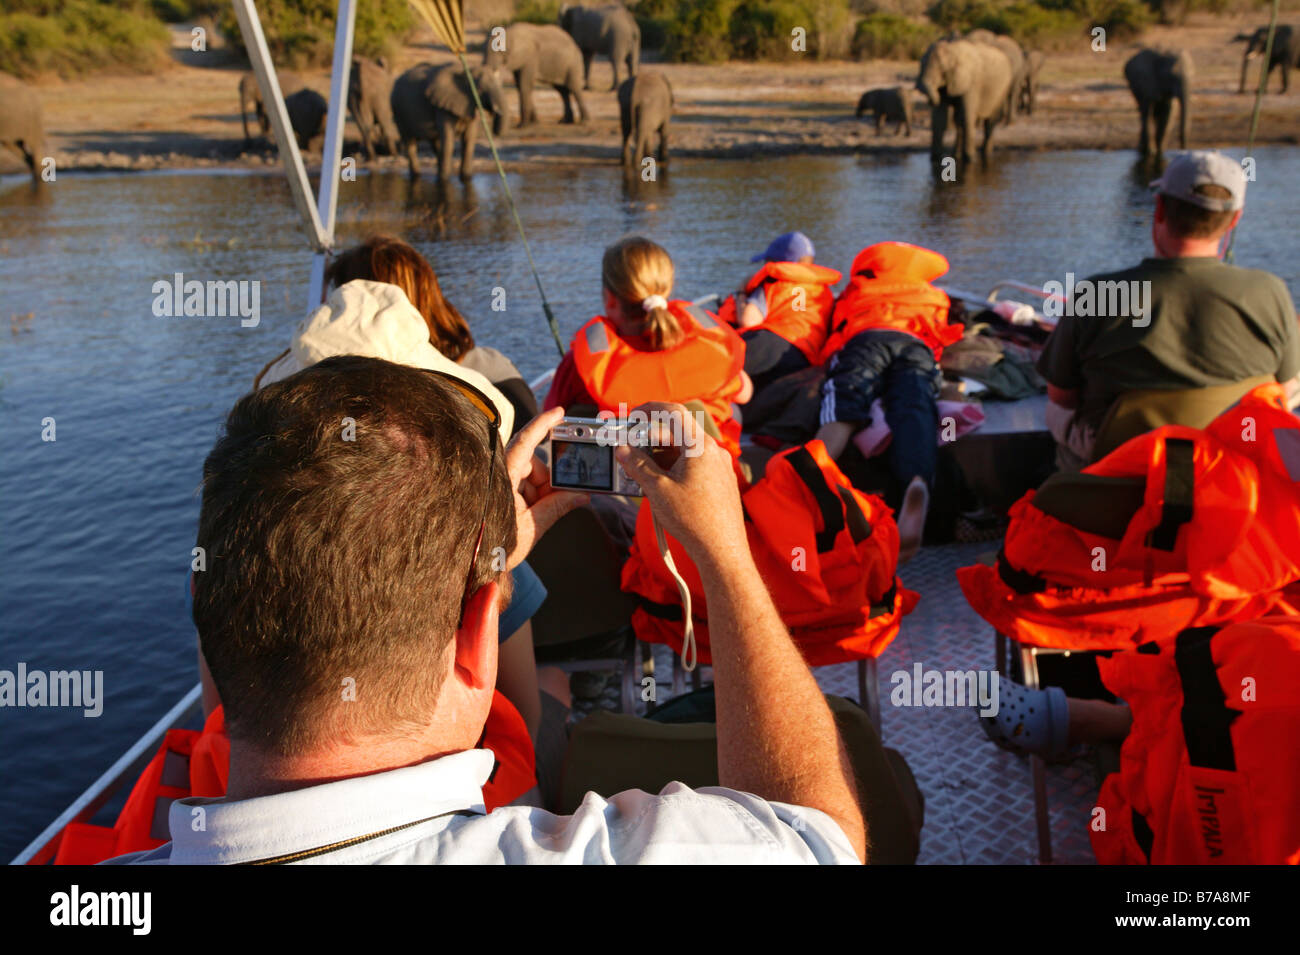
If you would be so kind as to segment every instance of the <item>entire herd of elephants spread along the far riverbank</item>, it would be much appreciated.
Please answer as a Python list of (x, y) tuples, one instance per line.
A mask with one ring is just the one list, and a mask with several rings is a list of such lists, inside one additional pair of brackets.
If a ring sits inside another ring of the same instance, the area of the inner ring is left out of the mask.
[[(1239, 34), (1245, 42), (1239, 92), (1245, 92), (1247, 73), (1253, 60), (1268, 56), (1265, 84), (1280, 70), (1282, 92), (1290, 84), (1291, 68), (1300, 68), (1300, 29), (1278, 26), (1273, 44), (1268, 27)], [(391, 156), (406, 155), (411, 174), (419, 174), (416, 151), (421, 142), (433, 147), (438, 178), (451, 168), (456, 143), (460, 144), (460, 177), (472, 172), (480, 108), (500, 133), (506, 117), (502, 74), (515, 81), (519, 97), (519, 126), (537, 122), (533, 103), (536, 87), (551, 87), (564, 107), (563, 122), (586, 122), (585, 92), (590, 90), (592, 61), (606, 56), (614, 69), (619, 118), (623, 134), (623, 164), (633, 168), (654, 153), (667, 160), (668, 123), (673, 97), (667, 78), (658, 71), (640, 70), (641, 31), (633, 16), (619, 4), (604, 6), (563, 6), (556, 25), (511, 23), (494, 27), (481, 65), (472, 68), (471, 90), (464, 69), (458, 64), (434, 66), (419, 64), (394, 78), (387, 64), (354, 57), (347, 105), (361, 134), (361, 146), (374, 160), (382, 146)], [(972, 30), (965, 36), (936, 40), (920, 60), (915, 90), (931, 109), (931, 156), (944, 155), (948, 126), (956, 130), (956, 155), (971, 161), (976, 136), (983, 131), (980, 152), (987, 157), (993, 131), (1011, 123), (1017, 113), (1030, 114), (1037, 100), (1039, 74), (1044, 55), (1024, 51), (1009, 36), (988, 30)], [(1192, 60), (1187, 52), (1140, 49), (1123, 68), (1124, 79), (1138, 104), (1141, 131), (1138, 148), (1160, 155), (1173, 105), (1179, 107), (1179, 146), (1187, 147)], [(625, 78), (620, 82), (620, 75)], [(316, 90), (291, 71), (280, 71), (281, 92), (290, 126), (299, 148), (307, 149), (324, 134), (328, 103)], [(885, 122), (896, 133), (911, 134), (913, 90), (902, 86), (867, 90), (858, 101), (858, 117), (875, 117), (879, 134)], [(251, 73), (239, 81), (239, 113), (244, 142), (251, 140), (250, 118), (266, 135), (270, 122), (261, 92)], [(39, 177), (44, 156), (40, 100), (20, 79), (0, 74), (0, 147), (23, 157), (34, 178)]]

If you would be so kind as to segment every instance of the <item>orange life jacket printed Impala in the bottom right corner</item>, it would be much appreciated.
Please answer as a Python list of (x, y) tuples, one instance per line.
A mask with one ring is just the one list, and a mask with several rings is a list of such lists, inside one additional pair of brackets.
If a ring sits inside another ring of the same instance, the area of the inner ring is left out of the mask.
[(1102, 864), (1300, 864), (1300, 617), (1098, 657), (1132, 709), (1091, 825)]

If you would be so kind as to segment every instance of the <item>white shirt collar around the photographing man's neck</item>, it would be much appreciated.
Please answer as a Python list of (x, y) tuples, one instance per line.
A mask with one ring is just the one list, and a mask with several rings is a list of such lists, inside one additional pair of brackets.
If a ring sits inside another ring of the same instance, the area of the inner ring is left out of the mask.
[(214, 865), (302, 852), (456, 811), (485, 813), (488, 750), (254, 799), (177, 799), (172, 864)]

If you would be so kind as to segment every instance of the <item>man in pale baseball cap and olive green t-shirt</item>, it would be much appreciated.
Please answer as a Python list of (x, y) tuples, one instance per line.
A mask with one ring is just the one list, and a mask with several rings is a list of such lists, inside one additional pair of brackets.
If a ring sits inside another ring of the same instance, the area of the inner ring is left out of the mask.
[[(1154, 255), (1076, 285), (1075, 308), (1066, 309), (1039, 359), (1063, 469), (1091, 463), (1097, 426), (1127, 391), (1265, 376), (1291, 382), (1300, 374), (1296, 309), (1286, 285), (1221, 260), (1245, 205), (1242, 165), (1213, 151), (1179, 153), (1152, 188)], [(1122, 285), (1102, 285), (1110, 282)], [(1101, 294), (1117, 287), (1127, 294)], [(1091, 308), (1082, 307), (1084, 288)], [(1124, 301), (1128, 308), (1114, 308)]]

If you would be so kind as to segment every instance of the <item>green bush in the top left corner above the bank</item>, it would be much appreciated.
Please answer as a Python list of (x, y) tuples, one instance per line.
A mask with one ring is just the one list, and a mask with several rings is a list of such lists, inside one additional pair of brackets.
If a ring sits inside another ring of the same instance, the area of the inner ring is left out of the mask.
[(0, 70), (65, 78), (101, 69), (152, 73), (169, 61), (166, 27), (143, 3), (9, 0), (0, 14)]

